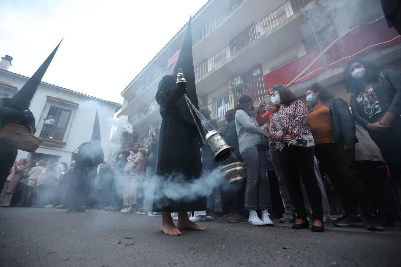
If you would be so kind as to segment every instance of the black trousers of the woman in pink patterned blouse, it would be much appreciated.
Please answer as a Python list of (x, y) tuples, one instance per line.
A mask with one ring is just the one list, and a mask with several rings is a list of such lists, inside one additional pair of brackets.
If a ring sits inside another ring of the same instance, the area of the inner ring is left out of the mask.
[(298, 218), (305, 221), (308, 219), (300, 184), (301, 176), (312, 208), (313, 220), (323, 221), (322, 192), (315, 175), (313, 148), (286, 145), (279, 155)]

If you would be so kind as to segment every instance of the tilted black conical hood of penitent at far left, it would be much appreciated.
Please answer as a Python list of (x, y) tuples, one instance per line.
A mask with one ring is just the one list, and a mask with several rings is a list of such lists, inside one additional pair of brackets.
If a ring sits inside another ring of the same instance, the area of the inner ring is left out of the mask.
[(50, 65), (51, 60), (53, 59), (54, 55), (57, 52), (57, 49), (59, 48), (61, 42), (56, 46), (56, 48), (51, 52), (51, 54), (46, 58), (45, 62), (36, 70), (36, 72), (30, 77), (30, 79), (22, 86), (22, 88), (14, 94), (12, 98), (9, 99), (11, 104), (14, 104), (18, 106), (18, 109), (21, 110), (26, 110), (29, 107), (30, 100), (32, 100), (32, 97), (34, 93), (36, 92), (36, 89), (38, 88), (43, 75), (45, 75), (45, 72), (47, 68)]

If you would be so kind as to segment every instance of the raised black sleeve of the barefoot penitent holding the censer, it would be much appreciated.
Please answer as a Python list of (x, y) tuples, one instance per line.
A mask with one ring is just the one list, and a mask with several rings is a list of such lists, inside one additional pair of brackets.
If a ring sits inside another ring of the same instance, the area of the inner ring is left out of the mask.
[(169, 76), (164, 76), (159, 82), (159, 87), (156, 92), (156, 102), (163, 108), (173, 106), (180, 97), (185, 94), (185, 87), (177, 87)]

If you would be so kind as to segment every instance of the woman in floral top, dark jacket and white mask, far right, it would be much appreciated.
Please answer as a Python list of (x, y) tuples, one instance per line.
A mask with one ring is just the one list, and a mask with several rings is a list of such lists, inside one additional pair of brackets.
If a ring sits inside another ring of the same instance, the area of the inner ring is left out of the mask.
[(391, 177), (401, 184), (401, 75), (393, 70), (379, 72), (373, 64), (354, 59), (344, 66), (344, 82), (352, 93), (355, 121), (368, 130)]

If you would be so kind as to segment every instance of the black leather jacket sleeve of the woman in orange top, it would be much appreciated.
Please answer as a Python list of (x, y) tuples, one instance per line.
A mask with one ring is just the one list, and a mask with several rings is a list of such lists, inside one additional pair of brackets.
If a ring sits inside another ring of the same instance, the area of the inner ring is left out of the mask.
[(337, 107), (338, 116), (340, 117), (341, 136), (344, 145), (355, 144), (355, 121), (348, 109), (348, 105), (341, 98), (334, 98), (334, 103)]

